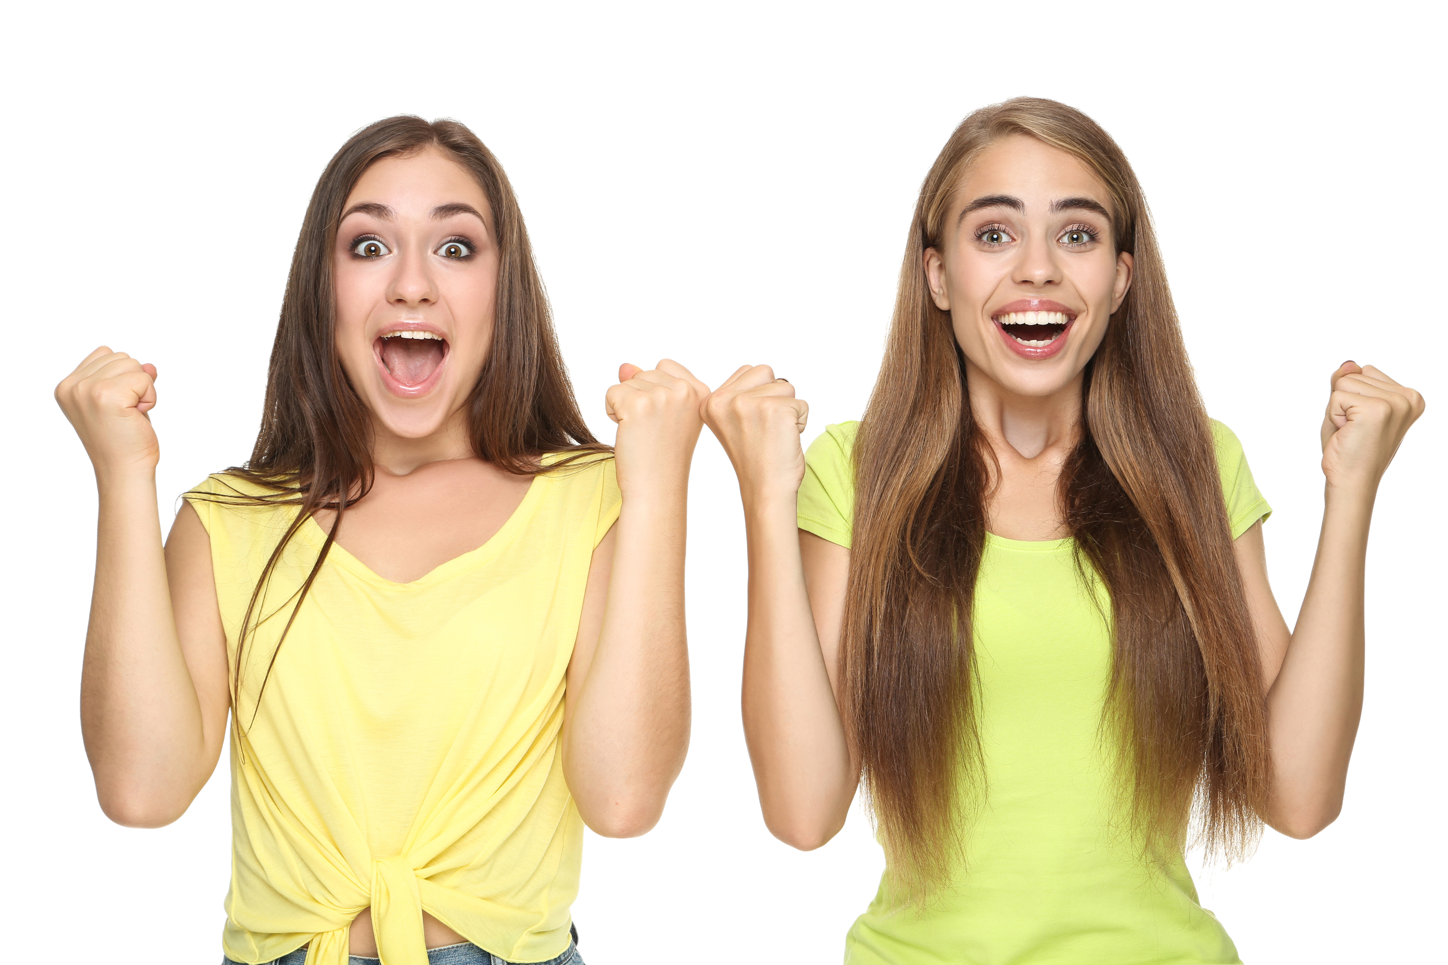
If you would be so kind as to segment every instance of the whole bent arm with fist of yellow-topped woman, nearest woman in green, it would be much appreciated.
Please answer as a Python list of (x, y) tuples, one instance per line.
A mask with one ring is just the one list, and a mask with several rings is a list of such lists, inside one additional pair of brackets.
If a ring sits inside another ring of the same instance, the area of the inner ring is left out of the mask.
[(683, 545), (708, 395), (683, 366), (626, 366), (610, 389), (623, 509), (594, 551), (568, 670), (563, 773), (584, 820), (631, 838), (663, 815), (689, 747)]

